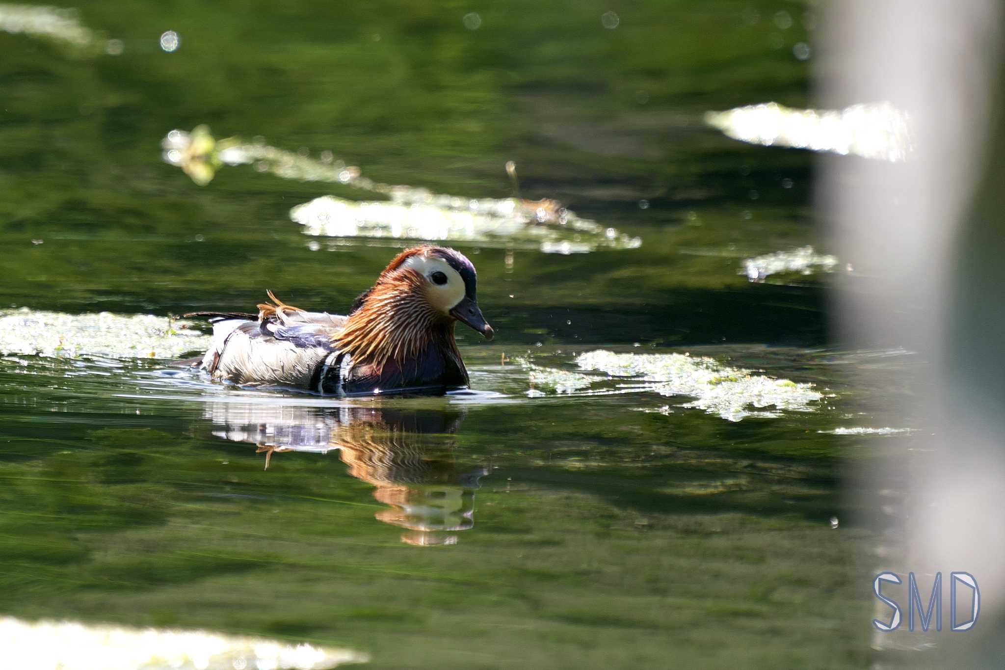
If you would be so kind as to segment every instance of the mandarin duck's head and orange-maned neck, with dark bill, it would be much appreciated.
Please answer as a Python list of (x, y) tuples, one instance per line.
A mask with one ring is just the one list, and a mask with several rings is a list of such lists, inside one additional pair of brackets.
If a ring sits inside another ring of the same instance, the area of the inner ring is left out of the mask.
[(462, 253), (429, 245), (406, 249), (357, 298), (338, 344), (355, 360), (380, 367), (417, 356), (436, 341), (455, 349), (456, 321), (491, 340), (476, 284), (474, 265)]

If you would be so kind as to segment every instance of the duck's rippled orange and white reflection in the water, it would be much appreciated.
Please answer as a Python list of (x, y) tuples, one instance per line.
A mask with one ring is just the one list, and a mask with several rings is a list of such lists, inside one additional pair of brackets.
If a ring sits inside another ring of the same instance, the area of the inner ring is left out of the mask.
[(349, 474), (376, 486), (388, 505), (375, 515), (409, 532), (409, 544), (454, 544), (474, 524), (474, 491), (485, 467), (459, 467), (448, 456), (464, 413), (380, 407), (319, 409), (295, 405), (211, 403), (213, 434), (257, 446), (267, 469), (284, 451), (337, 449)]

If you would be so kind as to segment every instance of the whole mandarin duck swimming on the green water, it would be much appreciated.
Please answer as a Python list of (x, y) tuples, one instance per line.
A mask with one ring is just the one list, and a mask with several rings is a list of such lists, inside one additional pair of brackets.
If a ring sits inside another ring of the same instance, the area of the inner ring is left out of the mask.
[(213, 340), (199, 367), (214, 380), (323, 395), (442, 394), (468, 385), (454, 339), (457, 320), (486, 338), (474, 267), (442, 247), (399, 254), (347, 315), (277, 300), (258, 314), (209, 316)]

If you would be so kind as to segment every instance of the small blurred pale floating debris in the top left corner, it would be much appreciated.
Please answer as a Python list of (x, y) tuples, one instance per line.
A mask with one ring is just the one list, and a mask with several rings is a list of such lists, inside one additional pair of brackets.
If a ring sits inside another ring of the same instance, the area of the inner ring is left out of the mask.
[(75, 9), (0, 4), (0, 30), (44, 39), (81, 55), (119, 55), (123, 43), (80, 23)]

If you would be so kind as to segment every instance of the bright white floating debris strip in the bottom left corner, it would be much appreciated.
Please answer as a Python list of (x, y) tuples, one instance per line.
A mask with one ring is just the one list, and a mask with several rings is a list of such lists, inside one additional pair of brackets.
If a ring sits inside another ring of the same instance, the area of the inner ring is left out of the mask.
[(12, 617), (0, 618), (0, 649), (4, 667), (18, 670), (327, 670), (370, 660), (348, 649), (207, 631), (26, 622)]

